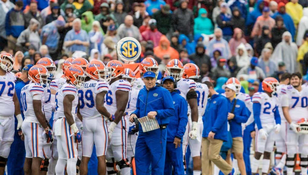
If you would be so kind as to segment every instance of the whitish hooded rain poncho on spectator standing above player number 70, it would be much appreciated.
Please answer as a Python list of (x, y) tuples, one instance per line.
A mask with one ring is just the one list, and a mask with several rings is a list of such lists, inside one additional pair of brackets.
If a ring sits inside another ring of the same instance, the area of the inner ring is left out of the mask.
[[(290, 43), (286, 43), (284, 37), (290, 36)], [(297, 69), (297, 46), (292, 42), (291, 33), (286, 31), (282, 35), (282, 42), (280, 42), (276, 47), (272, 55), (272, 60), (275, 63), (283, 61), (286, 64), (286, 70), (293, 73)]]

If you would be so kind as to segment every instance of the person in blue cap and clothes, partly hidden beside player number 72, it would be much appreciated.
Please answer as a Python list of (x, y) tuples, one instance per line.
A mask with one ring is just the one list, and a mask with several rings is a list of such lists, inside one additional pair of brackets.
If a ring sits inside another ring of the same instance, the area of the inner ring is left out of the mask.
[[(22, 120), (24, 119), (21, 100), (20, 100), (20, 93), (21, 89), (29, 83), (28, 79), (28, 71), (33, 66), (33, 64), (28, 64), (22, 69), (22, 73), (20, 77), (15, 81), (15, 92), (16, 96), (19, 100), (20, 104), (20, 112), (22, 115)], [(20, 130), (17, 131), (17, 119), (15, 117), (15, 134), (14, 134), (14, 141), (11, 144), (10, 155), (7, 161), (7, 173), (11, 175), (23, 175), (23, 164), (25, 162), (26, 157), (26, 150), (25, 150), (25, 143), (20, 139)]]

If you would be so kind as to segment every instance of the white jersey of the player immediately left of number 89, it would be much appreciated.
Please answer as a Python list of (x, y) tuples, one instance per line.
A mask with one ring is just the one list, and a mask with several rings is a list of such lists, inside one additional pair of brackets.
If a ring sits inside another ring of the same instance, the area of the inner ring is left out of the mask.
[(78, 92), (77, 92), (77, 88), (75, 88), (75, 86), (65, 83), (61, 86), (61, 88), (57, 91), (56, 96), (55, 96), (55, 103), (56, 103), (56, 107), (55, 107), (55, 117), (54, 119), (58, 119), (61, 117), (65, 117), (64, 116), (64, 107), (63, 107), (63, 99), (64, 96), (66, 95), (73, 95), (75, 96), (75, 99), (72, 102), (72, 115), (75, 121), (76, 118), (76, 113), (77, 113), (77, 105), (78, 105)]

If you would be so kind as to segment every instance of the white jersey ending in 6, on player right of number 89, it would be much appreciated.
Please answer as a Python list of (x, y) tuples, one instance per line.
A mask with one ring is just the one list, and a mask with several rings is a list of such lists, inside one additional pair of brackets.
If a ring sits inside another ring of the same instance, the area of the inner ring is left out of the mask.
[(105, 96), (105, 107), (107, 108), (110, 114), (115, 114), (116, 111), (116, 98), (115, 92), (117, 90), (121, 91), (130, 91), (132, 85), (123, 79), (117, 80), (109, 85), (108, 93)]

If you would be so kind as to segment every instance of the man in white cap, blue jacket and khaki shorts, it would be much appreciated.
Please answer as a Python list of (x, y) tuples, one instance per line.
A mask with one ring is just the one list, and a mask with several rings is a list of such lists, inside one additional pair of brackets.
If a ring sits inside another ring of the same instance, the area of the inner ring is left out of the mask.
[(227, 119), (229, 121), (232, 136), (231, 153), (233, 153), (234, 159), (237, 160), (237, 165), (241, 175), (246, 175), (246, 167), (243, 157), (244, 144), (241, 124), (248, 120), (248, 110), (242, 100), (235, 98), (236, 87), (233, 84), (224, 85), (222, 88), (225, 89), (225, 95), (228, 98), (229, 105)]

